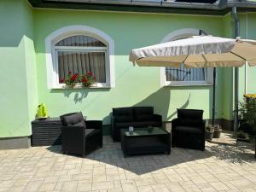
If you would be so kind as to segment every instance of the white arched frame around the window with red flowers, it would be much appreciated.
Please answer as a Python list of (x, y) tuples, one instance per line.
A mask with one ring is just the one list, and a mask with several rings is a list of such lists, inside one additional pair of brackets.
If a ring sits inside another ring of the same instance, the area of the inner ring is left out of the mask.
[[(106, 44), (106, 47), (78, 47), (78, 46), (55, 46), (56, 43), (64, 38), (84, 35), (96, 38)], [(49, 34), (45, 38), (45, 55), (47, 69), (47, 85), (48, 89), (65, 89), (65, 84), (59, 83), (58, 59), (57, 51), (100, 51), (105, 53), (106, 65), (106, 83), (96, 83), (93, 87), (97, 88), (113, 88), (115, 86), (114, 77), (114, 43), (113, 39), (105, 32), (90, 26), (65, 26)], [(81, 85), (75, 88), (82, 88)]]

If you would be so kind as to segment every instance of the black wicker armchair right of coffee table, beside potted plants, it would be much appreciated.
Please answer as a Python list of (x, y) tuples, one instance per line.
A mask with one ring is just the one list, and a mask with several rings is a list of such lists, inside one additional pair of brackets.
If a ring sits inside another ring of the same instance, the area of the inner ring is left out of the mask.
[(172, 120), (172, 147), (205, 149), (203, 110), (177, 109)]

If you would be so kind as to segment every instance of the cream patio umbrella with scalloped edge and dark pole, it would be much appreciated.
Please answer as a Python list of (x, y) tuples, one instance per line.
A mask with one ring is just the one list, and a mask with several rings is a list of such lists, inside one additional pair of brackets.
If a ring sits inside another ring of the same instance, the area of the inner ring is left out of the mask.
[(215, 113), (215, 67), (256, 66), (256, 41), (196, 36), (132, 49), (130, 61), (142, 67), (213, 67), (212, 124)]

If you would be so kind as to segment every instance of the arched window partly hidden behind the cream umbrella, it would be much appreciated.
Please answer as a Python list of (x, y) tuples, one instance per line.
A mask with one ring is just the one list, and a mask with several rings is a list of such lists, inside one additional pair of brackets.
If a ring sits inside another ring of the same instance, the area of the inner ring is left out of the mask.
[[(168, 34), (162, 43), (195, 35), (199, 35), (199, 30), (181, 29)], [(212, 68), (185, 68), (183, 65), (180, 68), (162, 67), (160, 76), (162, 85), (212, 84)]]

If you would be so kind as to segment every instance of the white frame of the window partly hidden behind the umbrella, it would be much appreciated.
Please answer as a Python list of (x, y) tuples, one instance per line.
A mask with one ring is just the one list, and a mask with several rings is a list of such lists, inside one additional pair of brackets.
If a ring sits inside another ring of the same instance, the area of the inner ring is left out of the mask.
[[(166, 35), (161, 43), (177, 40), (179, 38), (189, 38), (199, 35), (199, 29), (183, 28)], [(166, 67), (160, 67), (160, 85), (161, 86), (197, 86), (197, 85), (212, 85), (213, 84), (213, 68), (206, 68), (205, 81), (167, 81)]]

